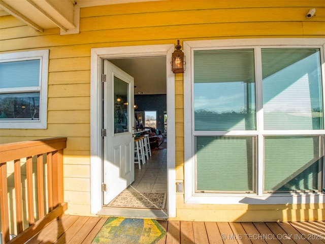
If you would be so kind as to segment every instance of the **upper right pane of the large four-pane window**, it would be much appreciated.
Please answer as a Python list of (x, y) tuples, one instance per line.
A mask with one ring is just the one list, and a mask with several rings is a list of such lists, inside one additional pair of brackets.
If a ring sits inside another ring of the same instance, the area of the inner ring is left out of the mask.
[(319, 49), (262, 49), (266, 130), (321, 130)]

